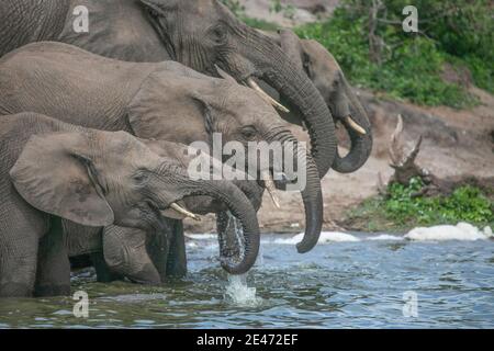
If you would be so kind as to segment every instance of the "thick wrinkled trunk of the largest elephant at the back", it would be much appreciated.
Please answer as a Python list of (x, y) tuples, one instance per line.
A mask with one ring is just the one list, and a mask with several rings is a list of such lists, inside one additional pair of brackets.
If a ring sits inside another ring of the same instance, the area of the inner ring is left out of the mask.
[(329, 109), (308, 77), (273, 39), (252, 29), (246, 31), (249, 34), (247, 37), (252, 41), (250, 47), (258, 47), (254, 54), (257, 57), (252, 58), (257, 69), (254, 75), (273, 87), (290, 105), (299, 109), (311, 137), (311, 154), (323, 178), (337, 152), (335, 124)]

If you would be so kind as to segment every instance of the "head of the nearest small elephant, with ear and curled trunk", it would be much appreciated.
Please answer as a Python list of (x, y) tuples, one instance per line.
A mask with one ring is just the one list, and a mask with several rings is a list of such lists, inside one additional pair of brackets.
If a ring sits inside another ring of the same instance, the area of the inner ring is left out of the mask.
[(33, 207), (85, 226), (160, 230), (162, 212), (188, 214), (177, 202), (188, 196), (214, 197), (240, 220), (245, 236), (242, 261), (224, 261), (223, 268), (240, 274), (256, 261), (256, 212), (237, 186), (227, 181), (192, 180), (179, 162), (160, 157), (125, 132), (34, 135), (10, 177)]

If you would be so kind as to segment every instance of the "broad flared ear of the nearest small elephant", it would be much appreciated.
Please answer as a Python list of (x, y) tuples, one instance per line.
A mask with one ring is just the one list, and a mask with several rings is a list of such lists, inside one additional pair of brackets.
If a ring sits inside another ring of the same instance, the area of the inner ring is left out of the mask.
[(10, 170), (19, 194), (33, 207), (99, 227), (114, 222), (98, 171), (80, 133), (33, 135)]

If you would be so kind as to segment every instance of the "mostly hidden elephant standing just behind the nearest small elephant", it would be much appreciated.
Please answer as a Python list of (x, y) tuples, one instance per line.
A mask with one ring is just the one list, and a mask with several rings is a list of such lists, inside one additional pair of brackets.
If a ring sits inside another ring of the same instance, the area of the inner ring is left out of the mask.
[[(207, 158), (211, 165), (211, 178), (215, 171), (232, 172), (227, 166), (211, 158), (206, 154), (195, 156), (188, 147), (169, 141), (149, 141), (146, 144), (160, 157), (177, 160), (188, 169), (193, 159)], [(237, 173), (238, 174), (238, 173)], [(246, 178), (242, 177), (243, 179)], [(262, 190), (257, 181), (232, 181), (249, 199), (257, 212), (261, 205)], [(211, 196), (193, 196), (183, 199), (180, 204), (194, 214), (215, 213), (225, 216), (227, 207), (224, 203)], [(91, 254), (91, 261), (79, 264), (79, 268), (92, 263), (100, 282), (110, 282), (126, 278), (141, 284), (166, 283), (169, 278), (181, 278), (187, 273), (187, 257), (181, 220), (186, 216), (175, 211), (164, 212), (166, 230), (162, 233), (146, 233), (136, 228), (108, 226), (99, 228), (83, 227), (71, 222), (64, 222), (64, 233), (67, 238), (69, 257), (79, 260), (81, 254)], [(170, 219), (169, 217), (176, 218)], [(232, 233), (218, 228), (221, 260), (238, 260), (243, 250), (239, 242), (226, 246)]]

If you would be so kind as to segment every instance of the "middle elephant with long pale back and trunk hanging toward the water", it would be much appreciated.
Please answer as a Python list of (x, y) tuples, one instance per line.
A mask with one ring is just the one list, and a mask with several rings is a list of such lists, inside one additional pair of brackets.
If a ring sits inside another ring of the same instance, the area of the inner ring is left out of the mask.
[[(0, 114), (34, 111), (86, 127), (186, 145), (204, 141), (210, 147), (212, 134), (221, 133), (223, 143), (290, 141), (294, 158), (306, 152), (254, 90), (173, 61), (124, 63), (66, 44), (34, 43), (0, 59), (0, 91), (5, 92), (0, 95)], [(246, 162), (248, 169), (257, 167), (256, 159), (249, 161), (255, 165)], [(306, 252), (321, 234), (323, 199), (312, 157), (297, 166), (306, 169), (301, 191), (305, 236), (297, 250)], [(269, 165), (266, 171), (280, 170), (274, 168)]]

